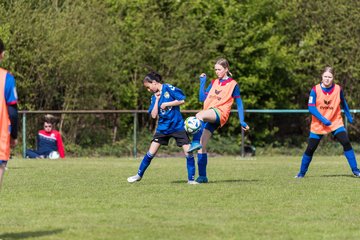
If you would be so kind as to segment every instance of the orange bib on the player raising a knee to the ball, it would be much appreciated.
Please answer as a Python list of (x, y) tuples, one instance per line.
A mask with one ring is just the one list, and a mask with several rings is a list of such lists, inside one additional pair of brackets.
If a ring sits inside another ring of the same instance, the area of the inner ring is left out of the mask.
[(204, 110), (216, 108), (220, 112), (220, 126), (224, 126), (230, 116), (231, 106), (234, 102), (232, 93), (236, 86), (236, 81), (232, 78), (220, 82), (215, 79), (212, 82), (212, 87), (208, 93), (205, 102)]

